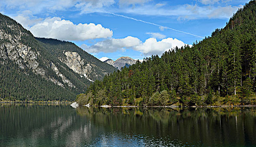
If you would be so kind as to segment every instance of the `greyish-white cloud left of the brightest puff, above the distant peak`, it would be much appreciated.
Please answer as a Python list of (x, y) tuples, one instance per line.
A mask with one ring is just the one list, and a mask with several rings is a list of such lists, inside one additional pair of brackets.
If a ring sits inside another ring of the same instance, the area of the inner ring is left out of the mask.
[(124, 47), (130, 48), (139, 45), (140, 42), (140, 39), (128, 36), (123, 39), (106, 39), (90, 47), (83, 47), (82, 45), (81, 47), (89, 53), (113, 53), (117, 50), (125, 50)]

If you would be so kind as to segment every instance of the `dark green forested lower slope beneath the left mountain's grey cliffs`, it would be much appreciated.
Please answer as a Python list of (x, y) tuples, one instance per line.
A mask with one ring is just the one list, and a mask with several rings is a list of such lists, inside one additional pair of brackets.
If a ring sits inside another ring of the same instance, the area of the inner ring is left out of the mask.
[[(47, 81), (29, 69), (9, 61), (0, 66), (0, 98), (11, 101), (73, 101), (76, 93)], [(0, 100), (1, 101), (1, 100)]]

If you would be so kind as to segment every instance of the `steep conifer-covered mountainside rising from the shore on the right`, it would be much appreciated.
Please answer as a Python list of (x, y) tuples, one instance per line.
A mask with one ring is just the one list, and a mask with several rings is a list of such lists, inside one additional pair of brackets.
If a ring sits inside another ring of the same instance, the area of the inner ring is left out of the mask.
[(77, 101), (91, 105), (255, 105), (256, 0), (240, 8), (211, 37), (105, 76)]

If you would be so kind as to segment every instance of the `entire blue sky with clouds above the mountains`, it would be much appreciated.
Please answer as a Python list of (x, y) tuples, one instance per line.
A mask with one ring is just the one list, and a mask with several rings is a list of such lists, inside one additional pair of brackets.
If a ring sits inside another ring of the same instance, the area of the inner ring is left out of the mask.
[(97, 58), (143, 59), (223, 28), (249, 0), (1, 0), (35, 37), (74, 42)]

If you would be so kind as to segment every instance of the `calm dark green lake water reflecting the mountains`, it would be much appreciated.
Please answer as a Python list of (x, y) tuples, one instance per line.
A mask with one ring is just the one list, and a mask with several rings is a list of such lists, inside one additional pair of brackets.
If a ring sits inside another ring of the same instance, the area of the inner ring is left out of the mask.
[(0, 104), (0, 146), (256, 147), (256, 108)]

